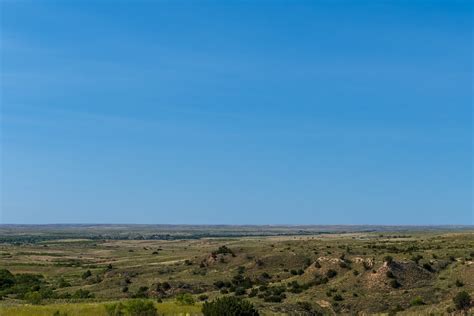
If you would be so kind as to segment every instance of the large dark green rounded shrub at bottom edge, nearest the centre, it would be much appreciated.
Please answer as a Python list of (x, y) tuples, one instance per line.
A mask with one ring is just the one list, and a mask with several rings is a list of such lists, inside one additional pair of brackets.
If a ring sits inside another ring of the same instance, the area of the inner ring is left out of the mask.
[(202, 306), (204, 316), (258, 316), (254, 306), (241, 298), (225, 296)]

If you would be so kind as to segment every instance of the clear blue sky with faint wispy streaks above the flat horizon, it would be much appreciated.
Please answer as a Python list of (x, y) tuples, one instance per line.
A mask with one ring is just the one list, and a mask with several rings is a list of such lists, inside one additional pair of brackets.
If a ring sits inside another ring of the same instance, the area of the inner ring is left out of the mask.
[(2, 223), (473, 224), (471, 1), (2, 1)]

